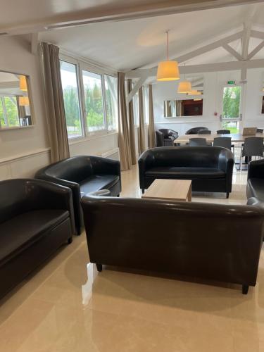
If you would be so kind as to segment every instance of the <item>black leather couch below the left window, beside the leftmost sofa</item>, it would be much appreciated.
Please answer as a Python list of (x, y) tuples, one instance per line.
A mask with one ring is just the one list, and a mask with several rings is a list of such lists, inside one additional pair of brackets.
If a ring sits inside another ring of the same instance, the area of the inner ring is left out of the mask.
[(46, 166), (35, 177), (72, 189), (77, 234), (82, 231), (84, 194), (109, 189), (111, 196), (119, 196), (121, 191), (120, 162), (99, 156), (73, 156)]

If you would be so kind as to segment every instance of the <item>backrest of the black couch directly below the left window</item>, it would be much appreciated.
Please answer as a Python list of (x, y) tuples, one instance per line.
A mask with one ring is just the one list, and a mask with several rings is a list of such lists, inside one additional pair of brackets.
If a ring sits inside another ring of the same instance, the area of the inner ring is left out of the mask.
[(46, 177), (55, 177), (79, 183), (93, 175), (92, 161), (89, 156), (73, 156), (47, 166), (40, 170), (40, 173)]

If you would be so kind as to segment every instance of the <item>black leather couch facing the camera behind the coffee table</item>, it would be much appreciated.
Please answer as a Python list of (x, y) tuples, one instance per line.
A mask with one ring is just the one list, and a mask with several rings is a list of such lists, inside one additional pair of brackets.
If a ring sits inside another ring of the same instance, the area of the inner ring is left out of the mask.
[(219, 146), (153, 148), (139, 157), (139, 184), (144, 192), (156, 179), (192, 180), (192, 191), (232, 191), (234, 156)]

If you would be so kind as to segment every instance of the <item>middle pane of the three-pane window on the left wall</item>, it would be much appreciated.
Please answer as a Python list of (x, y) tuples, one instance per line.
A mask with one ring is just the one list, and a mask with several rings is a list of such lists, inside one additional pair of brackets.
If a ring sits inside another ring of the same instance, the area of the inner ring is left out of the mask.
[(84, 101), (89, 132), (105, 130), (101, 75), (82, 70)]

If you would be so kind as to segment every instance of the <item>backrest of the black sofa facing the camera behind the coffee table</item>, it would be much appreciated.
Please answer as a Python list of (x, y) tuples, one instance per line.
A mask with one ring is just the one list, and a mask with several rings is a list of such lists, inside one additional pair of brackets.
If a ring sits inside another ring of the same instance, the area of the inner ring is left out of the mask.
[(177, 146), (153, 148), (154, 166), (187, 168), (218, 168), (219, 156), (225, 149), (213, 146)]

